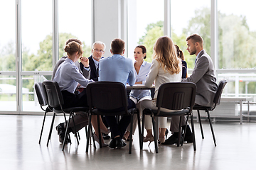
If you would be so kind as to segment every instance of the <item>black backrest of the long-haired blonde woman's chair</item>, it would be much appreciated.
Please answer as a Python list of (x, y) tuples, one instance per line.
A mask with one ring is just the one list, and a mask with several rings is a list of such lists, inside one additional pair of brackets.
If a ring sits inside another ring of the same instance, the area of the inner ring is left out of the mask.
[(171, 82), (161, 84), (156, 99), (156, 107), (171, 110), (192, 108), (195, 104), (196, 84), (191, 82)]

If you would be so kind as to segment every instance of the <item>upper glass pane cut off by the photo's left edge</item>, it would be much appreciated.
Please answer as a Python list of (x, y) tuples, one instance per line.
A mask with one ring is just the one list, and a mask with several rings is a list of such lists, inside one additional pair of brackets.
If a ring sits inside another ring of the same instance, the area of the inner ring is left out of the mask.
[(0, 1), (0, 72), (15, 71), (15, 1)]

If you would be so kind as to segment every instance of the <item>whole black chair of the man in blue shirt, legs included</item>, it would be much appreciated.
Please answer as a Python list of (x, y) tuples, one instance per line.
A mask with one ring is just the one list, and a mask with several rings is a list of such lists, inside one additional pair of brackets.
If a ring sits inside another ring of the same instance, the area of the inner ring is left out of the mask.
[[(139, 134), (141, 131), (140, 122), (139, 122), (139, 110), (137, 108), (131, 108), (127, 110), (128, 101), (127, 101), (127, 90), (124, 84), (119, 82), (110, 82), (110, 81), (97, 81), (94, 83), (90, 83), (87, 85), (87, 102), (90, 108), (89, 111), (89, 132), (91, 127), (91, 118), (92, 115), (97, 115), (97, 118), (100, 115), (131, 115), (131, 122), (133, 120), (134, 113), (137, 113), (138, 118), (138, 127), (139, 127)], [(120, 111), (120, 108), (121, 111)], [(103, 111), (104, 110), (104, 111)], [(116, 111), (114, 111), (116, 110)], [(117, 111), (118, 110), (118, 111)], [(98, 126), (99, 126), (99, 134), (100, 133), (100, 123), (98, 119)], [(130, 132), (132, 132), (132, 125), (130, 126)], [(88, 141), (89, 135), (87, 135), (87, 146), (86, 152), (88, 152)], [(101, 139), (101, 137), (99, 137)], [(142, 139), (139, 135), (140, 143)], [(100, 147), (102, 147), (101, 140), (100, 140)], [(132, 153), (132, 135), (129, 137), (129, 154)]]

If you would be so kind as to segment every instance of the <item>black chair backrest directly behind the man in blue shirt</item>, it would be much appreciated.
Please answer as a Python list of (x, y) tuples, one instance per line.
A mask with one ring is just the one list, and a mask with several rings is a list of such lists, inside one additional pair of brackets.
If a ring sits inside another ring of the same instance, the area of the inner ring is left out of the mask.
[(120, 82), (96, 81), (87, 85), (86, 92), (89, 108), (127, 111), (127, 90)]

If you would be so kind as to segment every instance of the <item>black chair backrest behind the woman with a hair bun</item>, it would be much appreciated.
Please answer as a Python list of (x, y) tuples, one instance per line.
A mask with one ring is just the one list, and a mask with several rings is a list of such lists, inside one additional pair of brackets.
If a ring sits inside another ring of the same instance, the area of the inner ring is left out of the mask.
[(52, 108), (63, 106), (63, 96), (58, 83), (56, 81), (43, 81), (43, 86), (46, 90), (48, 105)]

